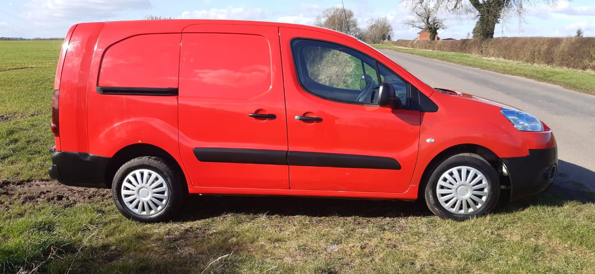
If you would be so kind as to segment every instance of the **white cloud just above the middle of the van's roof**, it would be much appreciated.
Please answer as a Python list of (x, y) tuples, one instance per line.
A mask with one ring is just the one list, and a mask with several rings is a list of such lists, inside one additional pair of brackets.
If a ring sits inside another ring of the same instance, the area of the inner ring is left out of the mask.
[(184, 11), (181, 19), (234, 19), (264, 20), (267, 10), (262, 8), (211, 8), (211, 10)]

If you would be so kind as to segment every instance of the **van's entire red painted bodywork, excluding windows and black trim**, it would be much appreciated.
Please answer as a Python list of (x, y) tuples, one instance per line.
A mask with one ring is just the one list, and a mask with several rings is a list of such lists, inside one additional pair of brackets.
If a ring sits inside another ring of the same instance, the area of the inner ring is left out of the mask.
[[(130, 144), (153, 144), (177, 160), (190, 193), (417, 199), (426, 166), (449, 147), (477, 144), (506, 158), (556, 145), (549, 128), (521, 133), (500, 114), (503, 105), (435, 92), (382, 53), (331, 30), (146, 20), (78, 24), (66, 37), (55, 84), (61, 90), (57, 149), (110, 157)], [(366, 53), (430, 97), (439, 111), (350, 105), (305, 92), (293, 66), (293, 37)], [(100, 95), (96, 86), (178, 87), (179, 96)], [(248, 116), (255, 112), (277, 119)], [(295, 115), (324, 121), (305, 123)], [(194, 147), (386, 156), (402, 169), (206, 163), (196, 160)]]

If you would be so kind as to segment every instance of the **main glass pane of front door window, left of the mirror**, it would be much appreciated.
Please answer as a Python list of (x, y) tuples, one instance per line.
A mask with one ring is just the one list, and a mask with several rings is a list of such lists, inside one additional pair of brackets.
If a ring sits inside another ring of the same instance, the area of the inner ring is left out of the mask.
[(294, 39), (293, 59), (300, 84), (310, 93), (347, 103), (377, 103), (375, 60), (333, 43)]

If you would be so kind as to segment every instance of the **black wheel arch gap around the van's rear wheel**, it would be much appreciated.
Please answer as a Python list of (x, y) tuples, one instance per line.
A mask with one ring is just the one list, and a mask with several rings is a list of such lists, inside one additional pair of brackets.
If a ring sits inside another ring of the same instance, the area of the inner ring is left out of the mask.
[(180, 163), (171, 156), (170, 153), (162, 149), (161, 147), (155, 146), (153, 144), (130, 144), (129, 146), (123, 147), (122, 149), (118, 150), (109, 159), (107, 168), (105, 169), (105, 184), (108, 188), (111, 188), (112, 181), (114, 179), (115, 173), (118, 171), (120, 166), (124, 165), (124, 163), (132, 160), (134, 158), (139, 158), (143, 156), (153, 156), (158, 157), (168, 165), (171, 166), (172, 169), (176, 172), (180, 172), (180, 178), (183, 180), (181, 183), (182, 188), (187, 192), (188, 185), (186, 183), (186, 176), (182, 170)]

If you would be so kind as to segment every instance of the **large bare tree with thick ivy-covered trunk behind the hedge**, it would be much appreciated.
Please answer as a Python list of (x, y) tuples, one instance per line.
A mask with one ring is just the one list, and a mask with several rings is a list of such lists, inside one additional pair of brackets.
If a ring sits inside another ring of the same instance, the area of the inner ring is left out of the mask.
[(491, 39), (494, 37), (496, 24), (500, 19), (509, 14), (515, 14), (522, 20), (525, 7), (543, 2), (554, 6), (559, 0), (401, 0), (408, 2), (413, 7), (430, 5), (442, 8), (456, 14), (472, 12), (477, 17), (473, 37), (478, 39)]

